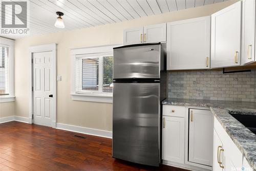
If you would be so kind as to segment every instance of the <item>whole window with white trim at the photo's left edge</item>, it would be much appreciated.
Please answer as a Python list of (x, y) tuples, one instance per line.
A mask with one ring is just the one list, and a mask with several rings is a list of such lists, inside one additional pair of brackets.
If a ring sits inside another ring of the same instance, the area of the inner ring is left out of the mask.
[(0, 37), (0, 102), (14, 101), (14, 41)]

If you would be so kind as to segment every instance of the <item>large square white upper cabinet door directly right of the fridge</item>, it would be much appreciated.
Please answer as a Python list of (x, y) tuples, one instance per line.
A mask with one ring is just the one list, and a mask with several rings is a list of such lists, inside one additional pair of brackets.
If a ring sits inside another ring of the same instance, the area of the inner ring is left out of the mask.
[(167, 24), (167, 70), (210, 68), (210, 16)]

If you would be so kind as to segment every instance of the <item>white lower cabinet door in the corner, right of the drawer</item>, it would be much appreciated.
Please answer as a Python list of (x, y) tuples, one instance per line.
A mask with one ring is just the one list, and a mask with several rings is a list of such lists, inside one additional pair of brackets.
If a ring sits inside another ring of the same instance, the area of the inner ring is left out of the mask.
[(189, 109), (188, 161), (212, 165), (214, 118), (211, 111)]

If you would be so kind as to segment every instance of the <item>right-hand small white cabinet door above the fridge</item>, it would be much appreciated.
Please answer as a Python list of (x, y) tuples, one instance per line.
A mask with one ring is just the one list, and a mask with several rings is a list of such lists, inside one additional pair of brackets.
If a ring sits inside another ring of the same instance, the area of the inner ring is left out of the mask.
[(166, 41), (166, 23), (144, 26), (144, 43)]

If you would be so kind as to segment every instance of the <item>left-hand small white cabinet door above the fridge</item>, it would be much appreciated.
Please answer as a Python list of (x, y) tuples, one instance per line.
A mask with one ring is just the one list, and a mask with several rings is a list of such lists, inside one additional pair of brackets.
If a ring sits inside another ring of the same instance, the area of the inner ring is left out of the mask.
[(123, 31), (123, 44), (142, 44), (143, 43), (143, 27), (125, 29)]

